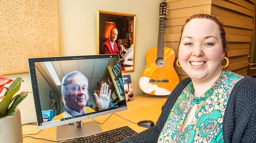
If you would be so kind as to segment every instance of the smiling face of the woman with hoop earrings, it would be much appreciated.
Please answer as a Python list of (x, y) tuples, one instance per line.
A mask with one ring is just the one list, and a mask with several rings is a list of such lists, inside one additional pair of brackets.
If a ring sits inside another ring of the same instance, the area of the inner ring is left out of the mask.
[(182, 33), (178, 55), (182, 69), (192, 80), (212, 80), (220, 73), (224, 56), (218, 25), (210, 19), (190, 20)]

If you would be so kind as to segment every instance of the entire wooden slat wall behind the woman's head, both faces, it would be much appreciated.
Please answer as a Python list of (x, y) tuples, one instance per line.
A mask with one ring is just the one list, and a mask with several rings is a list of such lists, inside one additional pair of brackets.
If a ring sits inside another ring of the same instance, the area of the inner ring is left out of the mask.
[[(166, 2), (169, 12), (165, 20), (167, 27), (164, 46), (174, 49), (176, 59), (180, 32), (186, 19), (193, 14), (211, 14), (220, 19), (226, 31), (230, 61), (227, 69), (239, 74), (247, 74), (256, 0), (166, 0)], [(180, 80), (188, 77), (181, 68), (176, 67), (176, 72)]]

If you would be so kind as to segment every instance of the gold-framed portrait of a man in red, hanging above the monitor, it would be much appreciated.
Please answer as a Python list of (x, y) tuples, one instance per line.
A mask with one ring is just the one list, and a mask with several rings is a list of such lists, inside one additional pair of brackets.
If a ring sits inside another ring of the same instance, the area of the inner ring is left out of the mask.
[(97, 10), (97, 54), (119, 54), (123, 72), (134, 71), (136, 15)]

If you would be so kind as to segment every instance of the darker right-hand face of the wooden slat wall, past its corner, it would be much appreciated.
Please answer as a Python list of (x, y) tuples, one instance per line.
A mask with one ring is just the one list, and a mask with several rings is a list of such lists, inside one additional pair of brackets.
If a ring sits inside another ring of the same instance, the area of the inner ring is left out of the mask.
[(254, 30), (255, 3), (249, 0), (212, 0), (211, 14), (224, 24), (229, 41), (228, 70), (247, 75)]

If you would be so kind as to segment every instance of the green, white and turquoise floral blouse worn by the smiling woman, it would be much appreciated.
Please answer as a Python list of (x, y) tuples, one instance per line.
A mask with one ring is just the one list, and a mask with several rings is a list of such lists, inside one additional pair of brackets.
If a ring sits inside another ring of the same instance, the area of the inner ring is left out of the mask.
[[(192, 81), (183, 89), (159, 135), (159, 143), (224, 143), (222, 120), (234, 85), (244, 76), (222, 69), (221, 76), (201, 97)], [(197, 104), (192, 122), (181, 131), (187, 112)]]

